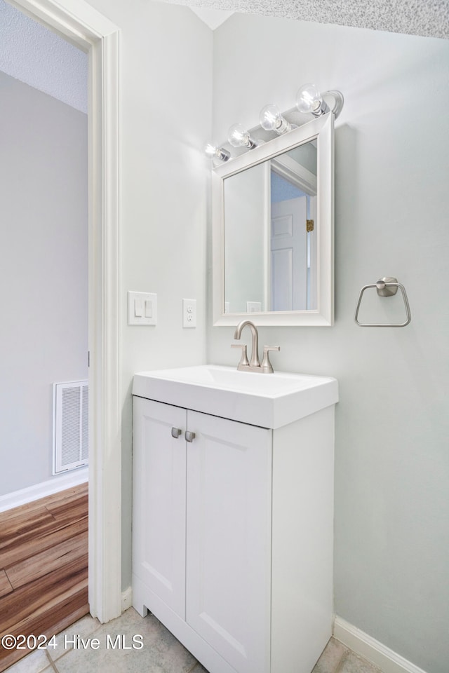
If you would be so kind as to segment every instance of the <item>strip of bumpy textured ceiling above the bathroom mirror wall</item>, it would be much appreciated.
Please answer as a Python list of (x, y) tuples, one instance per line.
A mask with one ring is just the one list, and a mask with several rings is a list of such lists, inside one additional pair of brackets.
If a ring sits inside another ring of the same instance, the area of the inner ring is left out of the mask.
[(200, 8), (449, 38), (449, 0), (164, 0)]

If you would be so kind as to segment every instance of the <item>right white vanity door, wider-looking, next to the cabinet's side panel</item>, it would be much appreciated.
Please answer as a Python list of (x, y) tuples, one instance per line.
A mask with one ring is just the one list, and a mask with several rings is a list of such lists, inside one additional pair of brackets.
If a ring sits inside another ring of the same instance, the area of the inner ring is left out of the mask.
[(239, 673), (270, 658), (272, 430), (188, 412), (187, 623)]

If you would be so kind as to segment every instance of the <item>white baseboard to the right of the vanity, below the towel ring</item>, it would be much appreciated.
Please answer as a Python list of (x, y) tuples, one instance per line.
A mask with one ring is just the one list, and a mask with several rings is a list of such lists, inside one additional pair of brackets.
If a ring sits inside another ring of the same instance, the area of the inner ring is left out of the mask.
[(396, 654), (341, 617), (335, 616), (334, 638), (356, 654), (378, 666), (382, 673), (425, 673), (422, 668)]

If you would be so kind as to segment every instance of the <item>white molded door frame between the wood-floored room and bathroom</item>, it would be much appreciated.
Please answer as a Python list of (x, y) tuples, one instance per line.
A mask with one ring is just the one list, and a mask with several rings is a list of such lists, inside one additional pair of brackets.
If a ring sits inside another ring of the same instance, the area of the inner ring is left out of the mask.
[[(119, 29), (83, 0), (8, 0), (88, 53), (89, 605), (121, 614)], [(87, 357), (87, 354), (86, 354)]]

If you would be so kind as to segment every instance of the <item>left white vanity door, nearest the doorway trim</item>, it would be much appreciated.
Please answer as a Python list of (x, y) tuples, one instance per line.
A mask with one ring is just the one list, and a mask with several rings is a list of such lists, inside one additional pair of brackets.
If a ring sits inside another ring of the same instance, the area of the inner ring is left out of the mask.
[(133, 573), (185, 619), (187, 412), (134, 397), (133, 413)]

